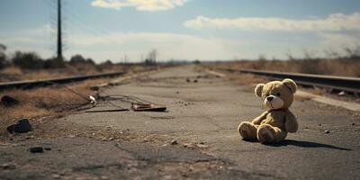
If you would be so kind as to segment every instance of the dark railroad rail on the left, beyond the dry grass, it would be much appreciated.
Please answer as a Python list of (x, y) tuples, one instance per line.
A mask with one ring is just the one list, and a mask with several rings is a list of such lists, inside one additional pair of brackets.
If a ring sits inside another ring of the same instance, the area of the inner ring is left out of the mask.
[(43, 79), (43, 80), (6, 82), (6, 83), (0, 83), (0, 91), (4, 91), (7, 89), (31, 89), (35, 87), (54, 85), (54, 84), (67, 84), (67, 83), (84, 81), (93, 78), (122, 76), (125, 73), (126, 73), (125, 71), (121, 71), (121, 72), (102, 73), (102, 74), (86, 75), (86, 76), (67, 76), (67, 77), (51, 78), (51, 79)]

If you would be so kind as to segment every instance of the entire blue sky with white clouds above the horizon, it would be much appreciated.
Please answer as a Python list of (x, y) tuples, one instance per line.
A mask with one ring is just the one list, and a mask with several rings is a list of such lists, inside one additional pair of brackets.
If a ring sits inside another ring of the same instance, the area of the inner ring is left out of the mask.
[[(358, 0), (62, 0), (64, 56), (96, 62), (285, 59), (360, 46)], [(11, 55), (56, 54), (56, 0), (1, 0)]]

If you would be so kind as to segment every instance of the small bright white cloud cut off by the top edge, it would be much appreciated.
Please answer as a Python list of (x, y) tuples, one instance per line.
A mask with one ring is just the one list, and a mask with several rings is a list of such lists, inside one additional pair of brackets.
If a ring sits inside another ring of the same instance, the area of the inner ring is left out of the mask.
[(94, 0), (91, 5), (119, 10), (123, 7), (135, 7), (138, 11), (164, 11), (181, 6), (188, 0)]

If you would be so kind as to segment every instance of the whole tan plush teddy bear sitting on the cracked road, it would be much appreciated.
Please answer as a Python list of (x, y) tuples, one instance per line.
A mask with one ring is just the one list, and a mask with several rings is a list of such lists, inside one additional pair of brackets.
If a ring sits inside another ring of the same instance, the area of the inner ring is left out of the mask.
[(296, 83), (289, 78), (258, 84), (255, 94), (261, 97), (266, 112), (253, 121), (242, 121), (238, 132), (243, 139), (257, 139), (261, 143), (277, 143), (284, 140), (288, 132), (298, 130), (298, 122), (288, 109), (293, 103)]

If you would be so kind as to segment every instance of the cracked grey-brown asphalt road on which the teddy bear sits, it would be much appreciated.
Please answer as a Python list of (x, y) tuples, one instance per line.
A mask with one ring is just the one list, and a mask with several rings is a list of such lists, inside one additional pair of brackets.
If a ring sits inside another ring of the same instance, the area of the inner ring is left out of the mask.
[[(252, 88), (192, 66), (113, 86), (102, 95), (134, 95), (168, 111), (78, 112), (60, 118), (64, 128), (109, 129), (128, 139), (24, 140), (0, 148), (0, 179), (360, 179), (358, 112), (296, 101), (291, 109), (300, 123), (297, 133), (275, 145), (244, 141), (238, 123), (264, 111)], [(113, 104), (130, 107), (112, 99), (94, 110)], [(35, 145), (51, 149), (29, 153)]]

